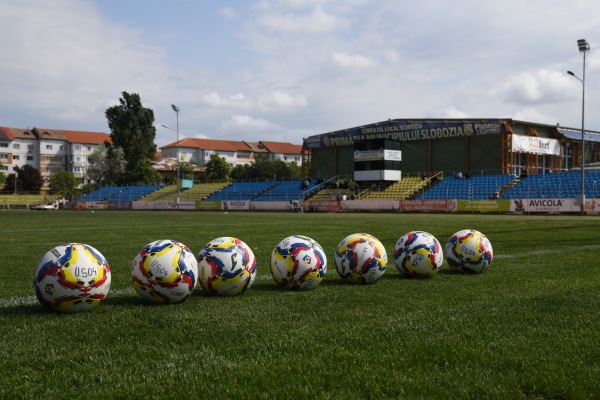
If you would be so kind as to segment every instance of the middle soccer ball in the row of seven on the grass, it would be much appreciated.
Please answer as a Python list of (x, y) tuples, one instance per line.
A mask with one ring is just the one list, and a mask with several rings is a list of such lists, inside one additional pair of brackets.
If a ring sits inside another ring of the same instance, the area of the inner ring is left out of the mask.
[(308, 236), (288, 236), (271, 253), (271, 275), (286, 289), (314, 289), (326, 273), (327, 256)]

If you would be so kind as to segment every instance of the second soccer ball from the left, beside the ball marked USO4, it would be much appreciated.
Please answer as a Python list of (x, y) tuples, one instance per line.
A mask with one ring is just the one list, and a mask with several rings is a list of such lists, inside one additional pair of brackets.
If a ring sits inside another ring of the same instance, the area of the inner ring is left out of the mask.
[(148, 243), (131, 266), (133, 288), (148, 303), (184, 301), (194, 292), (197, 276), (194, 253), (175, 240)]

